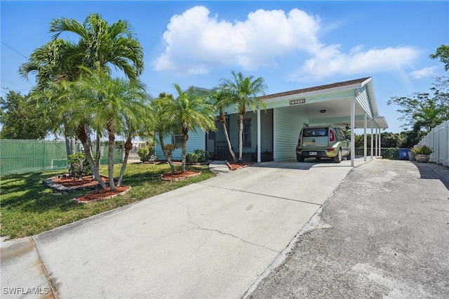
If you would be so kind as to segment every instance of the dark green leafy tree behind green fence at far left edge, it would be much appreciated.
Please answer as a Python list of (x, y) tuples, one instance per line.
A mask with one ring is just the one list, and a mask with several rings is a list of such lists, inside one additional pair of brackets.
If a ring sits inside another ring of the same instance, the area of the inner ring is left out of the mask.
[(37, 107), (28, 95), (8, 91), (5, 97), (0, 97), (0, 108), (2, 139), (46, 138), (49, 124), (45, 111)]

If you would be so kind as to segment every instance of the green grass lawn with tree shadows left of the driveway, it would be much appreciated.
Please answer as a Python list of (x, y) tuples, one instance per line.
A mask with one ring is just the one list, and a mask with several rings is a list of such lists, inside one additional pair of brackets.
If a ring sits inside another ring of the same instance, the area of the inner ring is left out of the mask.
[[(114, 177), (119, 176), (120, 168), (121, 164), (114, 166)], [(131, 186), (131, 190), (123, 196), (91, 204), (72, 201), (86, 191), (60, 194), (42, 184), (42, 180), (59, 175), (61, 171), (6, 175), (0, 180), (0, 235), (15, 239), (39, 234), (214, 176), (207, 165), (187, 166), (186, 169), (199, 170), (201, 175), (166, 182), (161, 180), (161, 174), (170, 171), (168, 164), (128, 164), (122, 185)], [(102, 166), (101, 174), (107, 175), (107, 166)]]

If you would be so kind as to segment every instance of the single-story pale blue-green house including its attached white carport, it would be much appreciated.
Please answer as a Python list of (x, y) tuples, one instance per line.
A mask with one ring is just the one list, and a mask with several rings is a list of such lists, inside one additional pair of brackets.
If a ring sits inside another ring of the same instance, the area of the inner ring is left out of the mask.
[[(303, 126), (333, 125), (340, 128), (370, 129), (375, 142), (371, 153), (379, 155), (380, 129), (388, 128), (380, 117), (375, 98), (373, 78), (366, 77), (310, 88), (286, 91), (260, 97), (267, 109), (248, 111), (243, 119), (243, 160), (279, 161), (295, 159), (297, 138)], [(225, 114), (229, 139), (239, 154), (239, 114), (229, 107)], [(207, 150), (213, 159), (229, 159), (222, 124), (217, 131), (189, 133), (187, 152)], [(166, 138), (167, 143), (180, 144), (178, 136)], [(354, 129), (351, 130), (354, 140)], [(353, 149), (354, 152), (354, 143)], [(366, 153), (366, 151), (365, 151)], [(163, 157), (160, 146), (156, 156)], [(366, 154), (365, 154), (366, 156)], [(352, 155), (354, 165), (354, 155)], [(181, 158), (181, 149), (173, 152), (173, 159)]]

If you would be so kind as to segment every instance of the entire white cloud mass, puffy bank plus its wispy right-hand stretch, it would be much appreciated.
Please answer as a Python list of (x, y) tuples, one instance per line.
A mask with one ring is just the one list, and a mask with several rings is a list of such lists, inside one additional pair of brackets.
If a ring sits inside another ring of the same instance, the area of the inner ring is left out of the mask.
[(320, 29), (318, 16), (297, 8), (288, 13), (260, 9), (249, 13), (243, 22), (229, 22), (210, 17), (204, 6), (195, 6), (170, 19), (163, 33), (166, 49), (154, 61), (154, 69), (188, 75), (206, 74), (214, 67), (228, 65), (243, 69), (276, 67), (276, 59), (302, 52), (311, 58), (303, 64), (292, 60), (292, 69), (297, 69), (290, 79), (312, 81), (335, 74), (394, 71), (409, 65), (418, 55), (410, 46), (366, 51), (363, 46), (355, 46), (349, 53), (342, 53), (340, 45), (319, 41)]

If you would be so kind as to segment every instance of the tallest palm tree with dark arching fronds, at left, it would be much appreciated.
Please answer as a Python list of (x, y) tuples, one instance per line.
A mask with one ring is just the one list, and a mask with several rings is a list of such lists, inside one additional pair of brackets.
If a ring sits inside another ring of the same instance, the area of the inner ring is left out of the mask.
[[(37, 72), (38, 86), (39, 83), (45, 86), (48, 80), (75, 81), (80, 74), (76, 72), (79, 65), (88, 69), (100, 69), (102, 72), (107, 72), (110, 66), (114, 66), (131, 79), (137, 78), (143, 71), (142, 46), (126, 21), (119, 20), (109, 25), (99, 14), (88, 15), (82, 24), (72, 19), (57, 18), (51, 22), (50, 32), (55, 32), (53, 41), (36, 49), (29, 63), (20, 69), (22, 75)], [(58, 39), (62, 32), (72, 32), (79, 35), (80, 39), (76, 44)], [(85, 142), (90, 148), (89, 119), (83, 121), (76, 124), (76, 132), (79, 140), (83, 138), (81, 142)], [(92, 167), (93, 171), (100, 164), (99, 134), (95, 158), (96, 166)]]

